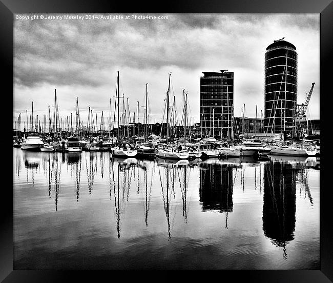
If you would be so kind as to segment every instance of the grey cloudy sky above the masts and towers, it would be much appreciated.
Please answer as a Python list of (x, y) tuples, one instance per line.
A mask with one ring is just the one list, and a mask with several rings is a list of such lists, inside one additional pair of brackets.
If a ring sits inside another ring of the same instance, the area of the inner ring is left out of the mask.
[[(16, 16), (38, 15), (38, 19)], [(304, 103), (311, 83), (316, 83), (309, 104), (309, 118), (320, 118), (320, 14), (149, 14), (168, 19), (40, 19), (40, 14), (14, 14), (13, 120), (31, 114), (43, 120), (48, 106), (54, 111), (57, 90), (59, 115), (75, 115), (76, 97), (84, 125), (88, 108), (101, 111), (107, 123), (109, 98), (116, 93), (129, 100), (131, 116), (137, 101), (144, 105), (148, 83), (152, 120), (161, 122), (164, 97), (171, 72), (171, 95), (179, 116), (182, 92), (189, 98), (189, 116), (199, 122), (200, 76), (203, 71), (234, 72), (235, 116), (255, 117), (264, 110), (264, 54), (283, 36), (298, 53), (298, 103)], [(68, 14), (67, 14), (68, 15)], [(71, 14), (77, 15), (77, 14)], [(84, 14), (78, 14), (84, 16)], [(141, 14), (133, 14), (141, 15)], [(144, 14), (147, 15), (147, 14)], [(143, 108), (140, 107), (143, 121)], [(23, 124), (23, 123), (22, 123)], [(23, 125), (22, 125), (23, 128)]]

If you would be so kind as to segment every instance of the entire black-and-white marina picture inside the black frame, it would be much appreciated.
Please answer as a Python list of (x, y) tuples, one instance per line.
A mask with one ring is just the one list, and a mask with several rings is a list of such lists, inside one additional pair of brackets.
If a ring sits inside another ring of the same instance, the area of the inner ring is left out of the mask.
[(13, 269), (323, 267), (320, 14), (70, 17), (14, 21)]

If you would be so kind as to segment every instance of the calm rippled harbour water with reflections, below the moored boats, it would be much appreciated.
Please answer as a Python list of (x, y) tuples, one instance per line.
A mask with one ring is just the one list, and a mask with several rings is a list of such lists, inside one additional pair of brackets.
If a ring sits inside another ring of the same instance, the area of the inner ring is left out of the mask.
[(320, 269), (320, 164), (13, 148), (14, 269)]

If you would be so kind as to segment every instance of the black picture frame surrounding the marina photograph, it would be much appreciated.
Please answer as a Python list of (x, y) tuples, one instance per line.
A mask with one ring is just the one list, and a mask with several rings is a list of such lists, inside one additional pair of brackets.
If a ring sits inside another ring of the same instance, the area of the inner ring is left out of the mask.
[[(320, 93), (321, 93), (321, 151), (324, 153), (321, 156), (321, 181), (320, 181), (320, 270), (295, 270), (295, 271), (220, 271), (218, 278), (232, 278), (233, 281), (238, 281), (245, 278), (247, 282), (332, 282), (333, 281), (333, 234), (330, 231), (332, 226), (331, 220), (331, 199), (332, 190), (329, 183), (325, 184), (325, 176), (329, 175), (326, 153), (329, 152), (329, 136), (330, 126), (328, 124), (330, 110), (330, 95), (332, 88), (330, 85), (331, 79), (331, 50), (332, 50), (332, 27), (333, 27), (333, 3), (331, 0), (283, 0), (283, 1), (265, 1), (265, 0), (234, 0), (234, 1), (168, 1), (161, 2), (158, 8), (157, 5), (142, 2), (111, 2), (107, 0), (100, 1), (79, 1), (79, 0), (1, 0), (1, 24), (0, 30), (2, 35), (1, 62), (3, 64), (2, 90), (4, 86), (7, 92), (3, 91), (2, 97), (13, 94), (13, 14), (15, 13), (82, 13), (82, 12), (227, 12), (227, 13), (320, 13)], [(5, 101), (5, 100), (4, 100)], [(10, 101), (10, 100), (9, 100)], [(11, 100), (12, 101), (12, 100)], [(10, 108), (3, 104), (3, 108), (10, 111)], [(5, 110), (6, 110), (5, 109)], [(11, 117), (5, 114), (3, 117)], [(6, 119), (3, 119), (4, 124), (10, 125)], [(12, 129), (9, 130), (10, 132)], [(8, 158), (11, 158), (9, 156)], [(6, 160), (6, 159), (5, 159)], [(7, 159), (8, 160), (8, 159)], [(10, 170), (10, 166), (6, 165), (3, 169)], [(8, 172), (8, 174), (10, 174)], [(75, 279), (97, 281), (98, 277), (109, 275), (110, 272), (93, 272), (93, 271), (36, 271), (36, 270), (13, 270), (13, 217), (12, 217), (12, 190), (3, 183), (2, 200), (3, 205), (0, 206), (1, 214), (1, 230), (0, 230), (0, 281), (3, 282), (65, 282)], [(6, 206), (4, 206), (6, 204)], [(112, 272), (112, 271), (111, 271)], [(136, 272), (138, 273), (138, 272)], [(173, 273), (163, 272), (166, 276)], [(112, 273), (114, 274), (114, 273)], [(118, 274), (118, 273), (117, 273)], [(124, 274), (126, 275), (126, 274)], [(217, 275), (217, 274), (216, 274)], [(147, 276), (147, 275), (143, 275)], [(197, 274), (192, 272), (186, 276), (207, 279), (204, 273)], [(198, 277), (199, 276), (199, 277)], [(107, 277), (108, 278), (108, 277)], [(109, 277), (108, 280), (112, 280)], [(167, 279), (168, 277), (165, 277)], [(153, 278), (150, 278), (153, 279)], [(155, 279), (158, 280), (158, 277)], [(173, 278), (175, 279), (175, 278)]]

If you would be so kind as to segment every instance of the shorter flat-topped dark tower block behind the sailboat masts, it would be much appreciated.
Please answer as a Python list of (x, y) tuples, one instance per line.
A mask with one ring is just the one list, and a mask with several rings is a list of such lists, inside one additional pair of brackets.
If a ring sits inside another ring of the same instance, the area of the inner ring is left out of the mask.
[(200, 131), (205, 136), (231, 138), (234, 73), (202, 72), (200, 77)]

